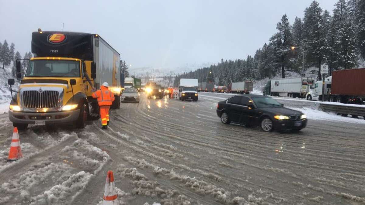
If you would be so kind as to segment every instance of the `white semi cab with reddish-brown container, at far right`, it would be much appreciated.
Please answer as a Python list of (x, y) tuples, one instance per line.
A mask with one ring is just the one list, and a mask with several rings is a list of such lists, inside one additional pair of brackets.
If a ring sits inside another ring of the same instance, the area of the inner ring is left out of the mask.
[(307, 100), (322, 100), (347, 104), (365, 102), (365, 68), (336, 70), (323, 81), (316, 81), (314, 88), (307, 93)]

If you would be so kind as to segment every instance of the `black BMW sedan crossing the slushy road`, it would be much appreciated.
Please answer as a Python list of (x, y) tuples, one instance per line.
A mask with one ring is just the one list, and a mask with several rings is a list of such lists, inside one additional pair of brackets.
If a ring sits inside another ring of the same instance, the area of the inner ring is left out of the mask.
[(265, 132), (300, 130), (307, 125), (307, 116), (303, 113), (284, 108), (277, 100), (260, 95), (237, 95), (220, 101), (217, 115), (224, 124), (258, 125)]

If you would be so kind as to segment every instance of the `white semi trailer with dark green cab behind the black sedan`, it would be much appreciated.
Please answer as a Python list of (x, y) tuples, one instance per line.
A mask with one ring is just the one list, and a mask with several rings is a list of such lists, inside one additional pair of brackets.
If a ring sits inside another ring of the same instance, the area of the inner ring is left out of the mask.
[(269, 80), (265, 84), (262, 95), (280, 97), (306, 97), (311, 86), (314, 84), (314, 77), (281, 78)]

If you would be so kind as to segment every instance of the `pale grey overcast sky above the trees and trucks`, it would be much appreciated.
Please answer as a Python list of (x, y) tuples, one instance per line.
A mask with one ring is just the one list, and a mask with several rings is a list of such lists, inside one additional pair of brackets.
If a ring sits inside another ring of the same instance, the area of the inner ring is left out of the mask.
[[(303, 18), (312, 0), (0, 0), (0, 41), (31, 49), (31, 32), (99, 34), (120, 58), (139, 67), (246, 58), (262, 47), (286, 13)], [(318, 0), (332, 13), (335, 0)]]

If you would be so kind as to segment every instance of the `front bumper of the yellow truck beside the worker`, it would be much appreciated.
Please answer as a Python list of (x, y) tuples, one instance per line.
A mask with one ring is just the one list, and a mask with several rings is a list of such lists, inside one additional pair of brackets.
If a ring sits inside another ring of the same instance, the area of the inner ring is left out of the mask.
[(13, 123), (35, 124), (45, 121), (46, 124), (67, 124), (78, 119), (80, 109), (65, 112), (14, 112), (9, 111), (9, 120)]

